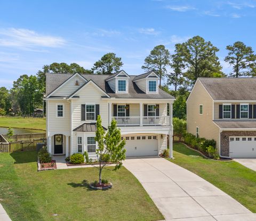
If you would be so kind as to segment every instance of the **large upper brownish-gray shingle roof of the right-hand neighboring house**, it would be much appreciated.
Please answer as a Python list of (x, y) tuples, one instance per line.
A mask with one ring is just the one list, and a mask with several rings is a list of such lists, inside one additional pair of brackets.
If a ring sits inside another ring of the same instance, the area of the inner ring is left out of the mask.
[(256, 78), (198, 78), (213, 100), (256, 100)]

